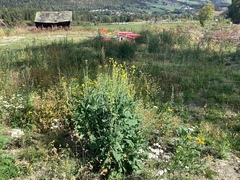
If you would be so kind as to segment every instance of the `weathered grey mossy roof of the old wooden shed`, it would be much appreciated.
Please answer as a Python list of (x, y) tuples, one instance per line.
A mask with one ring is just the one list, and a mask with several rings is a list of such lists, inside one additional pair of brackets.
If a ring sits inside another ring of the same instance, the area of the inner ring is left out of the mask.
[(36, 13), (34, 22), (59, 23), (72, 21), (72, 11), (40, 11)]

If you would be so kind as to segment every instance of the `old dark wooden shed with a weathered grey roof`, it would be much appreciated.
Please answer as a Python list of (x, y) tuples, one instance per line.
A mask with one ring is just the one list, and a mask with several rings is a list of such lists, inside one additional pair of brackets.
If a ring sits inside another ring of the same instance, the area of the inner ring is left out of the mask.
[(72, 22), (72, 11), (41, 11), (35, 16), (37, 28), (69, 28)]

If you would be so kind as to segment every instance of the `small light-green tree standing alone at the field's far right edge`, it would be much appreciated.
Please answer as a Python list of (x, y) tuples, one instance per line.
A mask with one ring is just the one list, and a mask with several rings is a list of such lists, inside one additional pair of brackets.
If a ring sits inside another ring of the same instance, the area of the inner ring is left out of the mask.
[(212, 3), (207, 3), (199, 11), (199, 21), (201, 26), (205, 26), (206, 21), (211, 20), (214, 16), (215, 7)]

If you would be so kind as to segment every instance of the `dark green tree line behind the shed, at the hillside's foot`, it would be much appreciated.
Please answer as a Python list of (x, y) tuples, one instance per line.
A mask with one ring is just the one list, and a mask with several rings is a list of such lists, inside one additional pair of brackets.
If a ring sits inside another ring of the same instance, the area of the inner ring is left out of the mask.
[[(3, 19), (7, 26), (34, 25), (37, 9), (0, 8), (0, 19)], [(111, 12), (79, 12), (73, 11), (73, 25), (81, 25), (82, 22), (91, 23), (118, 23), (132, 22), (137, 20), (157, 22), (160, 20), (175, 21), (178, 19), (196, 19), (191, 14), (142, 14), (142, 13), (120, 13)]]

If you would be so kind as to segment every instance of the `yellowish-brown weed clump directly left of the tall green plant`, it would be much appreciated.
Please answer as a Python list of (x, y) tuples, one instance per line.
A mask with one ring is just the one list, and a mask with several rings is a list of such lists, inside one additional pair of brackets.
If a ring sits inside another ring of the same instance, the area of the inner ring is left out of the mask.
[(48, 89), (46, 92), (31, 94), (30, 101), (34, 105), (33, 114), (41, 129), (59, 129), (61, 126), (70, 124), (72, 84), (72, 81), (68, 82), (63, 77), (59, 86)]

